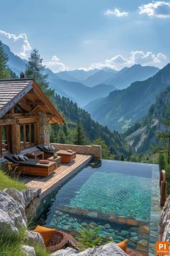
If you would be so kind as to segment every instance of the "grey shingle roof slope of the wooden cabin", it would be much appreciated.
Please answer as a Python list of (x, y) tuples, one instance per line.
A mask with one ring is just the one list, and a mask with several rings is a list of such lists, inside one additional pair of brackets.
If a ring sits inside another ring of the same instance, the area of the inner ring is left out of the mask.
[(32, 80), (0, 80), (0, 118), (31, 89)]

